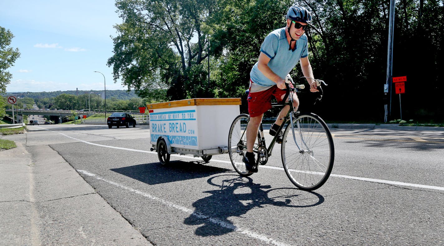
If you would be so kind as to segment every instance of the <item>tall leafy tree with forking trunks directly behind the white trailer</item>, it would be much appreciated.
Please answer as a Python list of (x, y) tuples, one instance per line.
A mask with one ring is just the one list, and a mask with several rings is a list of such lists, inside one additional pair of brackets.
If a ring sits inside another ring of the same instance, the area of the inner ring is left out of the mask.
[[(203, 96), (208, 91), (208, 21), (210, 0), (117, 0), (123, 23), (115, 28), (114, 55), (108, 59), (114, 79), (134, 88), (140, 97), (166, 91), (165, 99)], [(198, 89), (196, 89), (198, 88)]]

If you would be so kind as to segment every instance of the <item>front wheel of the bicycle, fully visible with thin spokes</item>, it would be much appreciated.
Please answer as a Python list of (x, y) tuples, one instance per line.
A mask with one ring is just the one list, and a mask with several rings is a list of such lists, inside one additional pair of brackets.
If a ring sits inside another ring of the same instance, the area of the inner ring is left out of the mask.
[[(294, 131), (293, 131), (294, 129)], [(301, 190), (313, 191), (330, 176), (334, 161), (333, 138), (321, 117), (300, 114), (285, 128), (282, 164), (290, 181)]]

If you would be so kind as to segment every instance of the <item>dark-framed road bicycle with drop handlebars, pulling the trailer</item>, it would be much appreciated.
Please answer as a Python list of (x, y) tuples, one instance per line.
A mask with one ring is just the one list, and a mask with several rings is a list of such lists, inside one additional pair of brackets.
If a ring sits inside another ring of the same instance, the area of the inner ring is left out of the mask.
[[(327, 84), (319, 79), (314, 80), (320, 90), (320, 97), (317, 98), (317, 101), (320, 101), (323, 95), (321, 83), (325, 86)], [(293, 84), (291, 78), (289, 78), (289, 82)], [(314, 113), (294, 111), (293, 94), (290, 92), (295, 90), (299, 92), (305, 86), (294, 85), (294, 88), (290, 88), (289, 84), (286, 84), (286, 87), (285, 98), (289, 98), (288, 102), (283, 100), (284, 103), (281, 104), (272, 103), (272, 106), (290, 106), (287, 115), (284, 117), (284, 123), (277, 131), (277, 133), (280, 133), (281, 130), (284, 130), (281, 144), (282, 164), (289, 180), (296, 187), (301, 190), (313, 191), (327, 181), (332, 171), (334, 161), (333, 137), (321, 117)], [(253, 174), (246, 170), (243, 162), (247, 149), (246, 126), (249, 121), (250, 116), (248, 114), (238, 115), (231, 124), (228, 135), (228, 153), (231, 164), (234, 170), (244, 177)], [(278, 137), (279, 134), (276, 134), (267, 148), (261, 122), (258, 130), (258, 141), (255, 141), (253, 148), (256, 165), (267, 163)]]

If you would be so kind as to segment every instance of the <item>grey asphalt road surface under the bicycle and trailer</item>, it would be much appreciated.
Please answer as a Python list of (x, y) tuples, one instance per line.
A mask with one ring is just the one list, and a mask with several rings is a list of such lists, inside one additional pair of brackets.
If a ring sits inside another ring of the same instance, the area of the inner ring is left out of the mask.
[(280, 148), (242, 178), (226, 154), (159, 164), (149, 126), (28, 129), (153, 245), (444, 245), (444, 132), (332, 129), (332, 176), (306, 192)]

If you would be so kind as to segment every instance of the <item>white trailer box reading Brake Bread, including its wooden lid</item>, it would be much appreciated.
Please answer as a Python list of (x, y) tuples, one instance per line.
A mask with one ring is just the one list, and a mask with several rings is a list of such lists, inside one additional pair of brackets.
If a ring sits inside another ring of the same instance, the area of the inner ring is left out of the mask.
[(155, 145), (163, 137), (173, 152), (215, 154), (214, 149), (228, 144), (228, 132), (239, 115), (239, 105), (240, 98), (193, 98), (147, 104), (150, 143)]

